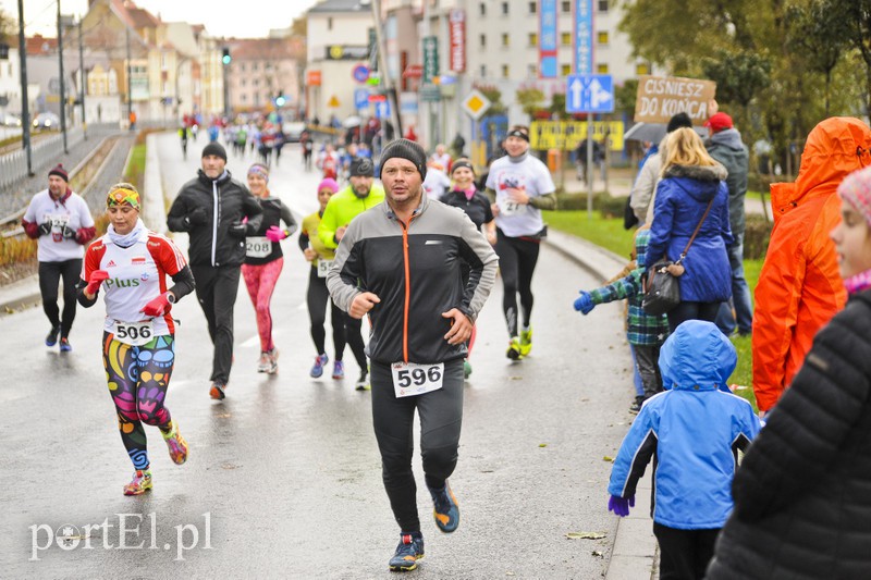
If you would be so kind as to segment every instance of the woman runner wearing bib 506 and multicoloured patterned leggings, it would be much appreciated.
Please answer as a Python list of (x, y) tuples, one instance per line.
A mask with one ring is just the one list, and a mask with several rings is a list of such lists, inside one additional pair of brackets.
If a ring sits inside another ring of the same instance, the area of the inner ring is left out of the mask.
[[(187, 459), (187, 443), (163, 405), (175, 362), (170, 310), (194, 291), (194, 275), (175, 244), (145, 227), (133, 185), (113, 185), (106, 206), (111, 223), (88, 247), (76, 288), (85, 308), (94, 306), (100, 288), (105, 292), (102, 361), (121, 441), (135, 470), (124, 495), (139, 495), (151, 489), (143, 423), (160, 429), (175, 464)], [(175, 283), (169, 289), (167, 275)]]

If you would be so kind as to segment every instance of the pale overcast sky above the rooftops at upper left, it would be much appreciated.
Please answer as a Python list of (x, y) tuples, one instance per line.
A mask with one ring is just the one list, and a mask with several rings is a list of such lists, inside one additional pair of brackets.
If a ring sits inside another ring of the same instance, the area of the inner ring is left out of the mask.
[[(88, 0), (60, 0), (61, 13), (74, 16), (87, 12)], [(165, 22), (205, 24), (212, 36), (265, 37), (270, 28), (284, 28), (317, 0), (135, 0)], [(17, 22), (17, 0), (0, 0), (0, 10)], [(24, 0), (27, 36), (57, 36), (57, 0)]]

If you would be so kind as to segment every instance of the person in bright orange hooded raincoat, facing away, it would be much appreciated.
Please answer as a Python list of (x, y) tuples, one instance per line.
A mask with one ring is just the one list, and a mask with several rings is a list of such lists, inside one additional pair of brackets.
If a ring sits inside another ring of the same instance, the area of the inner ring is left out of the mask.
[(753, 391), (768, 412), (789, 386), (813, 335), (847, 301), (829, 232), (841, 221), (835, 192), (871, 165), (871, 128), (836, 116), (808, 135), (795, 183), (771, 185), (774, 230), (756, 287)]

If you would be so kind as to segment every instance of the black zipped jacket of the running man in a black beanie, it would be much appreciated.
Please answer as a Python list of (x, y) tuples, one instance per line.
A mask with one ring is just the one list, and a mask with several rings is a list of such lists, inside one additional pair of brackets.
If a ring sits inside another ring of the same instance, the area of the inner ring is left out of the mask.
[[(206, 211), (206, 223), (192, 224), (188, 219), (196, 208)], [(262, 208), (242, 183), (229, 171), (212, 180), (203, 170), (182, 186), (167, 215), (171, 232), (187, 232), (191, 243), (187, 255), (191, 266), (241, 266), (245, 261), (245, 235), (260, 227)], [(230, 233), (230, 226), (248, 219), (245, 235)]]

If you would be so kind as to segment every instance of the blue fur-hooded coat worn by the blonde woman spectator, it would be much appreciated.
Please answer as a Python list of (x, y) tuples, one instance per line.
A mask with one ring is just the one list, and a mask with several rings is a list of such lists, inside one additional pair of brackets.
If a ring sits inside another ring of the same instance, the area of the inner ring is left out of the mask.
[(722, 303), (732, 296), (726, 246), (734, 242), (728, 222), (726, 170), (721, 164), (671, 165), (657, 185), (650, 224), (648, 268), (663, 258), (676, 261), (692, 236), (708, 202), (711, 211), (683, 261), (682, 301)]

